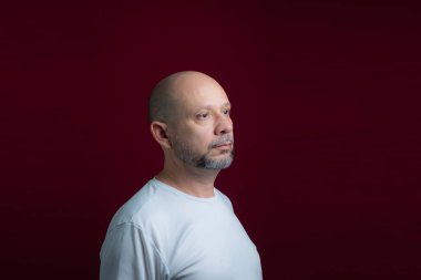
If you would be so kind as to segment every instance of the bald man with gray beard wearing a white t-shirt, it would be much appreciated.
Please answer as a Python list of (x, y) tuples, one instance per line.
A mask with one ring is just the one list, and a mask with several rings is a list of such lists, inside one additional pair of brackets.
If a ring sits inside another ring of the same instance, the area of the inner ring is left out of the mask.
[(214, 187), (233, 160), (230, 104), (212, 77), (162, 80), (150, 98), (151, 132), (164, 168), (113, 217), (101, 248), (101, 280), (258, 280), (260, 260)]

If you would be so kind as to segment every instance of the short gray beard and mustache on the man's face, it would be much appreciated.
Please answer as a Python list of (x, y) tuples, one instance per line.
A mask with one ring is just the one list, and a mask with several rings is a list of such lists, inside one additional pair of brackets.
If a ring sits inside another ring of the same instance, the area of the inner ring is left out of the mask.
[[(227, 157), (218, 160), (209, 157), (208, 154), (210, 153), (214, 146), (228, 141), (233, 143), (233, 148), (230, 151), (222, 151), (223, 154), (229, 154)], [(199, 168), (220, 170), (228, 168), (234, 160), (234, 139), (230, 136), (222, 136), (217, 141), (210, 143), (210, 145), (208, 146), (208, 152), (203, 155), (197, 155), (194, 151), (192, 151), (183, 142), (181, 142), (178, 137), (175, 137), (175, 139), (173, 141), (173, 147), (174, 153), (179, 160), (191, 166)]]

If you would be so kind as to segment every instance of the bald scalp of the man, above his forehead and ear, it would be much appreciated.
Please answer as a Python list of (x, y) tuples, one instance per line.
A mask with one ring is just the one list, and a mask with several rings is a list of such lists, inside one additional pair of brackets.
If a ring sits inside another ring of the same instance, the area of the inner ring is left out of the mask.
[(196, 72), (183, 71), (161, 80), (152, 90), (148, 104), (148, 120), (168, 123), (176, 114), (179, 97), (204, 84), (220, 85), (210, 76)]

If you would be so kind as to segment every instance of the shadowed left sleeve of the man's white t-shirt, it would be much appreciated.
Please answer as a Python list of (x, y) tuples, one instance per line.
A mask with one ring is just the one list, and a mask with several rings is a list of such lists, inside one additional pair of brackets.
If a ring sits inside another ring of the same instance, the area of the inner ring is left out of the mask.
[(166, 280), (167, 267), (140, 227), (112, 229), (101, 248), (100, 280)]

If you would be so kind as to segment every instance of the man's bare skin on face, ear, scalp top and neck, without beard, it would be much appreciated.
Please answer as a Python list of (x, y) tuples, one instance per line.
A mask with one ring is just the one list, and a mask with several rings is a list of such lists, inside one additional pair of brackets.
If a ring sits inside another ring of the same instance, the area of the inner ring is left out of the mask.
[(164, 82), (174, 107), (171, 121), (151, 123), (152, 135), (165, 157), (164, 167), (155, 177), (188, 195), (214, 197), (214, 183), (220, 169), (185, 163), (177, 156), (174, 143), (183, 143), (195, 154), (214, 160), (230, 157), (234, 135), (229, 100), (214, 79), (199, 72), (179, 72)]

